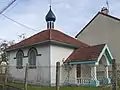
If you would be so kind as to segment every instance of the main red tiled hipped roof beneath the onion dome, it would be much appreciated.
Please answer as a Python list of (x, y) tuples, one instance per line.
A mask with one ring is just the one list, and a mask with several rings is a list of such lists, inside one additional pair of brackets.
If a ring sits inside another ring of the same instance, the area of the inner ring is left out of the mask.
[(62, 42), (62, 43), (67, 43), (67, 44), (72, 44), (75, 46), (81, 46), (81, 47), (87, 47), (88, 45), (74, 39), (73, 37), (70, 37), (58, 30), (54, 29), (48, 29), (48, 30), (43, 30), (19, 43), (16, 43), (15, 45), (12, 45), (8, 48), (8, 50), (16, 49), (22, 46), (30, 46), (34, 45), (43, 41), (50, 41), (54, 40), (57, 42)]

